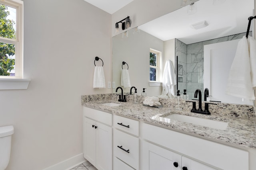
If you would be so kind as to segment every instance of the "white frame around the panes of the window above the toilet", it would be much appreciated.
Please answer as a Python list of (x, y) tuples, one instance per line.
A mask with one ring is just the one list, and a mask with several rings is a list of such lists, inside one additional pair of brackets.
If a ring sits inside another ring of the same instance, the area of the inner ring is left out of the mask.
[(0, 4), (16, 9), (16, 39), (0, 37), (3, 43), (15, 45), (15, 76), (0, 76), (1, 79), (22, 79), (23, 78), (23, 1), (21, 0), (0, 0)]

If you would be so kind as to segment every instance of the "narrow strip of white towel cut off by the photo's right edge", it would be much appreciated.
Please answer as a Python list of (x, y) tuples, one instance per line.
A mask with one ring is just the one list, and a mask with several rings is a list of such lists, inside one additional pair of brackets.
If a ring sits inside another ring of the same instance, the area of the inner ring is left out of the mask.
[(256, 40), (248, 36), (249, 57), (251, 66), (252, 87), (256, 87)]

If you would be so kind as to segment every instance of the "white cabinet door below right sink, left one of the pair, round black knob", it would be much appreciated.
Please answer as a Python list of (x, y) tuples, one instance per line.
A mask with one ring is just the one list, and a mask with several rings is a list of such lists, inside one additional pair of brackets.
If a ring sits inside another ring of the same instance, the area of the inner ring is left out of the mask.
[[(142, 143), (142, 170), (181, 170), (181, 155), (158, 147), (152, 143)], [(176, 167), (177, 166), (177, 167)]]

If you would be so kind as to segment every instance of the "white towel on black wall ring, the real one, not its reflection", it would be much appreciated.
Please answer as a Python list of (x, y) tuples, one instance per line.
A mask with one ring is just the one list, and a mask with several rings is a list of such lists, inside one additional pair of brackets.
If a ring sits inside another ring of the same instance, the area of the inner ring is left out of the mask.
[(95, 66), (93, 88), (106, 88), (103, 66)]

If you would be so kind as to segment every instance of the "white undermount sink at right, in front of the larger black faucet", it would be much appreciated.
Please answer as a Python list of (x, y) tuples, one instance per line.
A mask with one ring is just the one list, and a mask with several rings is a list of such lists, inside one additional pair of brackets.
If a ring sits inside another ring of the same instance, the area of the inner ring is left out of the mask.
[(165, 118), (192, 123), (195, 125), (210, 127), (214, 129), (220, 129), (220, 130), (225, 130), (228, 127), (227, 122), (216, 121), (211, 119), (203, 119), (203, 118), (192, 117), (187, 115), (172, 114), (172, 115), (165, 116)]

